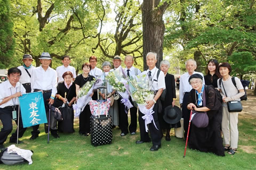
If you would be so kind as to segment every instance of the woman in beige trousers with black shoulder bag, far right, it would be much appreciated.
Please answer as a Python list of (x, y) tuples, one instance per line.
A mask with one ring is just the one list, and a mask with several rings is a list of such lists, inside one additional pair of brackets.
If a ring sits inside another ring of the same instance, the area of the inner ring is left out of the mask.
[(232, 82), (230, 72), (232, 71), (229, 63), (221, 63), (218, 67), (222, 79), (218, 80), (218, 89), (222, 96), (222, 123), (223, 143), (225, 151), (234, 155), (238, 143), (238, 112), (228, 112), (227, 102), (232, 100), (240, 100), (245, 92), (241, 81), (235, 77), (236, 86)]

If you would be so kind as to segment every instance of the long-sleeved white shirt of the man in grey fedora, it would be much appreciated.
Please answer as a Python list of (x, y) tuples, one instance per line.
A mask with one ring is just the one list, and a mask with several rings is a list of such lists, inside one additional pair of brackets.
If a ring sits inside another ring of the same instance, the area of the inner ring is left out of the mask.
[(31, 75), (31, 92), (34, 89), (52, 90), (52, 96), (57, 93), (57, 72), (51, 67), (44, 71), (42, 66), (36, 67)]

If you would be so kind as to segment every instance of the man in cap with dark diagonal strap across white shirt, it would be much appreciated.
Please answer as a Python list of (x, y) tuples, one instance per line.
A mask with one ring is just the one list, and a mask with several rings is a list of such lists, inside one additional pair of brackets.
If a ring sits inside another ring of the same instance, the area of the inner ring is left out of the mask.
[(23, 65), (19, 66), (18, 69), (21, 71), (20, 82), (26, 89), (26, 92), (31, 92), (31, 73), (35, 67), (31, 64), (33, 58), (29, 54), (24, 54), (22, 59)]

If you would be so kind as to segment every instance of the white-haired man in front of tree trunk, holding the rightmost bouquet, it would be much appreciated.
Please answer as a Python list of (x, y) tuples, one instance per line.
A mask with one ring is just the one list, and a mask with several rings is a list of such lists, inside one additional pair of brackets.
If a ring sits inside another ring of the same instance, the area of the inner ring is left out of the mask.
[[(149, 82), (151, 84), (151, 90), (155, 92), (155, 96), (153, 100), (147, 101), (146, 108), (151, 108), (154, 104), (153, 111), (153, 118), (155, 121), (155, 125), (153, 122), (148, 124), (148, 129), (150, 131), (151, 140), (153, 142), (153, 146), (150, 148), (151, 151), (156, 151), (161, 147), (161, 139), (163, 137), (163, 134), (161, 132), (159, 122), (158, 122), (158, 99), (161, 96), (163, 90), (165, 89), (165, 78), (164, 73), (162, 71), (159, 72), (159, 75), (157, 77), (157, 72), (159, 69), (156, 68), (156, 59), (157, 54), (149, 52), (146, 56), (148, 70), (147, 70), (147, 76), (149, 79)], [(137, 144), (144, 143), (144, 142), (150, 142), (150, 138), (148, 135), (148, 132), (146, 132), (145, 129), (145, 120), (143, 120), (142, 114), (139, 111), (139, 125), (140, 125), (140, 140), (136, 141)]]

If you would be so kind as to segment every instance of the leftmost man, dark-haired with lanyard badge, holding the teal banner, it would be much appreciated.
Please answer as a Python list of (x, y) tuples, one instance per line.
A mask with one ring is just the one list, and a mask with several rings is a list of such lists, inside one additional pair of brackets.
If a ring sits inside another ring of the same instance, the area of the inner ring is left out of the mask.
[[(19, 82), (20, 75), (21, 71), (13, 67), (8, 70), (8, 80), (0, 84), (0, 120), (3, 124), (3, 128), (0, 131), (0, 149), (4, 148), (3, 143), (12, 132), (12, 120), (18, 125), (18, 97), (26, 93), (26, 89)], [(21, 114), (19, 116), (19, 138), (21, 138), (26, 128), (23, 128)], [(17, 133), (18, 128), (10, 137), (10, 143), (17, 142)], [(22, 143), (22, 141), (19, 140), (18, 143)]]

